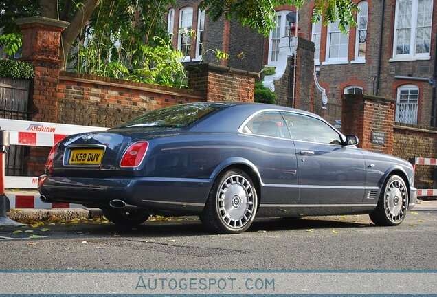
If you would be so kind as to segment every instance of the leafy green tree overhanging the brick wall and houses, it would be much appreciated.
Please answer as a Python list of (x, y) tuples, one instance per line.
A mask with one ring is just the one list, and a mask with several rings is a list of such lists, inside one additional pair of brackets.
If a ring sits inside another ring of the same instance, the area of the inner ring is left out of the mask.
[[(181, 53), (172, 48), (164, 14), (173, 0), (2, 0), (0, 28), (11, 33), (1, 43), (16, 49), (20, 30), (15, 19), (41, 15), (68, 21), (62, 32), (60, 60), (78, 72), (175, 85), (184, 77)], [(276, 6), (305, 0), (203, 0), (212, 21), (236, 19), (266, 36), (275, 26)], [(352, 0), (314, 0), (313, 21), (339, 19), (346, 31), (358, 10)]]

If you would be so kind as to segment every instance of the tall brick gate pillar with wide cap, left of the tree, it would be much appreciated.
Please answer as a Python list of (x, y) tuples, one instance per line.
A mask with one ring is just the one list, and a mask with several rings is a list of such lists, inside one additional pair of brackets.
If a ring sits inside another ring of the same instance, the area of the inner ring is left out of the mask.
[(69, 23), (45, 17), (17, 19), (16, 23), (23, 32), (21, 60), (32, 63), (35, 69), (29, 120), (56, 122), (60, 33)]

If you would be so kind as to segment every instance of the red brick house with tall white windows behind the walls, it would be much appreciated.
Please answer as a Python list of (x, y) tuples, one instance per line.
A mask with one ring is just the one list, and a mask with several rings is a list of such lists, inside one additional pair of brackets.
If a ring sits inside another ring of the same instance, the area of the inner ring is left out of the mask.
[[(358, 26), (348, 34), (339, 32), (337, 23), (327, 27), (322, 20), (311, 23), (312, 1), (298, 11), (300, 35), (314, 43), (317, 80), (328, 100), (322, 109), (314, 111), (333, 122), (341, 118), (343, 94), (364, 93), (395, 98), (395, 122), (437, 126), (436, 0), (354, 2), (360, 8)], [(221, 62), (229, 67), (259, 72), (265, 65), (281, 67), (285, 63), (279, 57), (280, 39), (289, 34), (286, 16), (295, 8), (276, 8), (278, 25), (265, 39), (234, 21), (212, 23), (198, 4), (176, 1), (167, 16), (173, 44), (187, 52), (186, 61), (203, 58), (214, 62), (208, 49), (217, 48), (229, 53), (229, 61)], [(179, 28), (192, 28), (197, 36), (184, 37)], [(321, 96), (315, 91), (307, 100), (317, 102)], [(302, 100), (300, 106), (294, 106), (309, 109)], [(291, 104), (289, 100), (278, 103)]]

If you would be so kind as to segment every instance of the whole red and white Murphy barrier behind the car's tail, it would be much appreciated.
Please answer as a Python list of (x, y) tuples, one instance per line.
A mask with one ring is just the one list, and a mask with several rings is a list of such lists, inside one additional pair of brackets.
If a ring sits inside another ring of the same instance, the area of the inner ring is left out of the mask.
[[(108, 128), (0, 119), (0, 129), (9, 131), (11, 145), (52, 147), (68, 135), (104, 131)], [(5, 188), (36, 189), (38, 188), (38, 177), (6, 176)], [(10, 199), (11, 208), (83, 208), (80, 204), (43, 203), (40, 201), (39, 195), (9, 194), (7, 197)]]

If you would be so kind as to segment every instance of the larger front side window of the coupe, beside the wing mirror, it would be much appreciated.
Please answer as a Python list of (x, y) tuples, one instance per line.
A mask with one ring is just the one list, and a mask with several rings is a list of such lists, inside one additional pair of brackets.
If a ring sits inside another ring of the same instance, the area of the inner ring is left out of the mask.
[(329, 124), (308, 115), (283, 113), (293, 140), (341, 145), (341, 137)]

